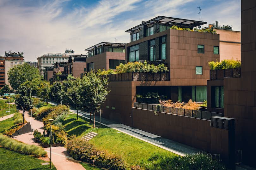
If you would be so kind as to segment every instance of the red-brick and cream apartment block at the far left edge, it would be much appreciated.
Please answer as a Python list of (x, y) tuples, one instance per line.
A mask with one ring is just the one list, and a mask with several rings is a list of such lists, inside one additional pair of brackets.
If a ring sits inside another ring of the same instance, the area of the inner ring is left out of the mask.
[(23, 53), (18, 52), (17, 54), (15, 52), (9, 51), (8, 53), (5, 52), (4, 55), (0, 55), (0, 88), (5, 84), (9, 85), (7, 73), (10, 68), (23, 63)]

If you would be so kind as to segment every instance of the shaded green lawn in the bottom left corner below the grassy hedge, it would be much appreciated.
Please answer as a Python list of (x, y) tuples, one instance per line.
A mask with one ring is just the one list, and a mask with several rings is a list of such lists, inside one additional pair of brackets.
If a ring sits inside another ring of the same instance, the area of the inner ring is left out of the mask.
[[(46, 161), (33, 156), (23, 155), (5, 148), (0, 148), (0, 167), (2, 170), (9, 169), (49, 169), (50, 165), (42, 165)], [(56, 169), (52, 164), (52, 169)]]

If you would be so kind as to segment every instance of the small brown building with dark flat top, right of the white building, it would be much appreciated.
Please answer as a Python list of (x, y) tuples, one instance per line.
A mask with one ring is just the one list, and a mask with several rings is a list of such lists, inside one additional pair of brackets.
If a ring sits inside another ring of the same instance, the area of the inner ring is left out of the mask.
[(86, 72), (86, 59), (87, 55), (70, 55), (68, 63), (64, 65), (64, 74), (71, 74), (74, 77), (80, 77), (80, 75)]

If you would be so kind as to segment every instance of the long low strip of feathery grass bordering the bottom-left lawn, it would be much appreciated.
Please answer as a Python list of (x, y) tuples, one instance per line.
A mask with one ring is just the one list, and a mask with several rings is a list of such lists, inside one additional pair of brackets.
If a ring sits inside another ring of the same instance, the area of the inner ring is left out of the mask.
[(0, 133), (0, 145), (6, 149), (13, 150), (25, 155), (34, 155), (35, 157), (46, 157), (47, 152), (40, 146), (24, 144), (15, 139), (11, 139)]

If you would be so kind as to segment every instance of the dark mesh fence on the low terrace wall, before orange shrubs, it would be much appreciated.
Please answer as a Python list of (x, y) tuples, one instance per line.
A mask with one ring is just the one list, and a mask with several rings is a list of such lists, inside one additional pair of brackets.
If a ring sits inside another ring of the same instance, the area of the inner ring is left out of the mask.
[(138, 102), (134, 103), (134, 107), (139, 109), (147, 109), (147, 110), (171, 113), (171, 114), (176, 114), (181, 116), (195, 117), (195, 118), (206, 119), (206, 120), (210, 120), (211, 116), (222, 116), (222, 113), (216, 113), (211, 111), (189, 110), (189, 109), (183, 109), (183, 108), (177, 108), (177, 107), (168, 107), (168, 106), (138, 103)]

